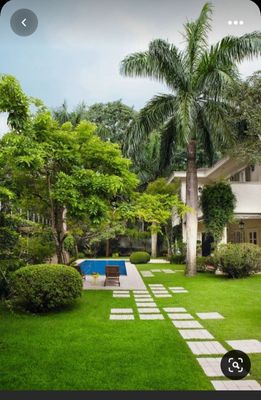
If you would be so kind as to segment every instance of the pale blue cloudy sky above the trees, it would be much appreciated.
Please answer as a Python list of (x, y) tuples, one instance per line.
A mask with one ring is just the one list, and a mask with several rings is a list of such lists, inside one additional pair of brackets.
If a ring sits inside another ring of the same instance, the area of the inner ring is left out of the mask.
[[(196, 19), (205, 0), (12, 0), (0, 17), (0, 73), (14, 75), (29, 96), (50, 107), (66, 99), (69, 108), (85, 101), (122, 99), (139, 110), (155, 94), (166, 91), (149, 79), (120, 75), (121, 60), (146, 50), (162, 38), (183, 48), (182, 25)], [(213, 0), (210, 43), (226, 35), (260, 30), (260, 12), (249, 0)], [(17, 36), (12, 14), (29, 8), (38, 16), (37, 31)], [(243, 21), (243, 24), (228, 24)], [(259, 60), (244, 62), (242, 75), (261, 69)], [(0, 134), (6, 114), (0, 114)]]

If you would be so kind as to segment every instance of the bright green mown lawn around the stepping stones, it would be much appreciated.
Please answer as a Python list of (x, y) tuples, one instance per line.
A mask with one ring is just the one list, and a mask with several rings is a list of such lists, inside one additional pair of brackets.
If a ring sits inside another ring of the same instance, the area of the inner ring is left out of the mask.
[[(170, 266), (180, 269), (180, 266)], [(139, 269), (169, 268), (166, 265)], [(211, 274), (185, 278), (156, 273), (145, 283), (184, 286), (188, 294), (157, 299), (160, 307), (218, 311), (224, 320), (202, 321), (221, 343), (261, 340), (261, 276), (228, 280)], [(135, 321), (110, 321), (110, 308), (133, 307)], [(71, 309), (51, 315), (0, 309), (0, 389), (10, 390), (211, 390), (178, 330), (164, 321), (140, 321), (133, 296), (85, 291)], [(228, 348), (228, 346), (226, 345)], [(250, 355), (252, 378), (261, 382), (261, 354)]]

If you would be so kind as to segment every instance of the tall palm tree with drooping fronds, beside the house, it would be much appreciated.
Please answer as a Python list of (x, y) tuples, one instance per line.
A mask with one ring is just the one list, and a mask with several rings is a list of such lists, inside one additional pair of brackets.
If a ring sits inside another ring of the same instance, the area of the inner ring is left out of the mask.
[[(208, 153), (231, 138), (225, 122), (233, 104), (227, 87), (239, 81), (237, 64), (261, 54), (261, 33), (227, 36), (208, 45), (212, 5), (206, 3), (197, 20), (184, 24), (185, 50), (161, 39), (153, 40), (147, 51), (128, 55), (121, 73), (149, 77), (166, 84), (167, 94), (156, 95), (141, 110), (130, 136), (137, 146), (154, 129), (161, 129), (162, 166), (168, 163), (174, 144), (187, 152), (186, 275), (196, 274), (198, 183), (196, 152), (202, 143)], [(137, 150), (136, 150), (137, 151)]]

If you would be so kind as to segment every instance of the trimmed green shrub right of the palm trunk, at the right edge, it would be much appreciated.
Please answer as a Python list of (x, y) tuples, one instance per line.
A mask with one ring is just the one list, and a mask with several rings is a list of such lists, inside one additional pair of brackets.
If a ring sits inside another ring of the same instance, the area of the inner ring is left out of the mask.
[(261, 271), (261, 247), (250, 243), (220, 245), (214, 265), (231, 278), (243, 278)]

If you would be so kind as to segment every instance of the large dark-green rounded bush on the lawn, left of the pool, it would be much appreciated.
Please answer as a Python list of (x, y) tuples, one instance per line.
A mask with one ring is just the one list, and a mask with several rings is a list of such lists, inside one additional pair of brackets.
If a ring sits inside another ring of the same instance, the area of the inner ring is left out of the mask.
[(66, 265), (32, 265), (15, 271), (11, 298), (16, 305), (32, 312), (57, 310), (81, 296), (82, 278)]

